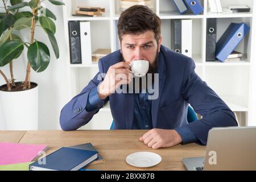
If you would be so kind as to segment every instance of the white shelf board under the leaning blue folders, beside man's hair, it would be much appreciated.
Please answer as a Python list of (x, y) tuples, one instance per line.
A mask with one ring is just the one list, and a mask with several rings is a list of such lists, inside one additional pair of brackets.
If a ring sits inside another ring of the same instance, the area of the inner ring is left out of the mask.
[(204, 15), (193, 15), (192, 13), (181, 15), (177, 11), (160, 11), (159, 17), (160, 19), (193, 19), (193, 18), (203, 18)]

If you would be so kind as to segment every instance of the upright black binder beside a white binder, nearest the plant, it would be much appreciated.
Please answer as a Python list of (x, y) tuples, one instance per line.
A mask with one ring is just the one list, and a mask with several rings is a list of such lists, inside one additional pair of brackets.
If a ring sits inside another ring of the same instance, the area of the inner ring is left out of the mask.
[(81, 64), (81, 42), (80, 42), (80, 22), (70, 21), (69, 27), (69, 50), (71, 64)]

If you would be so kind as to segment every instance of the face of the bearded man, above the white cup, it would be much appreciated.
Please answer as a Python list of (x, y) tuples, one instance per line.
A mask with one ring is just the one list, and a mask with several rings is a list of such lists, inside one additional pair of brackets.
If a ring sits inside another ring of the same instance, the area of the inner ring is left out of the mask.
[(140, 35), (126, 34), (122, 36), (121, 53), (127, 62), (134, 60), (147, 60), (154, 65), (157, 59), (162, 37), (156, 42), (153, 31), (146, 31)]

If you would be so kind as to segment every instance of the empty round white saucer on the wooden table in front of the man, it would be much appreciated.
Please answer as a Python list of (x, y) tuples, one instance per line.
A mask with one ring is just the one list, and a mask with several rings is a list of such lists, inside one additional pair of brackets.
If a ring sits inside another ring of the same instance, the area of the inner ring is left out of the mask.
[(141, 168), (155, 166), (159, 164), (161, 160), (161, 156), (154, 152), (135, 152), (126, 157), (126, 162), (128, 164)]

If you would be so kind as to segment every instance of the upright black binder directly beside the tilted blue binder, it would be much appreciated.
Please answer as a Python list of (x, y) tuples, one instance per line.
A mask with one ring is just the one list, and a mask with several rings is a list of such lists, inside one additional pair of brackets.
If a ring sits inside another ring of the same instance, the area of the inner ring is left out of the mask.
[(217, 18), (207, 19), (206, 61), (215, 61)]

